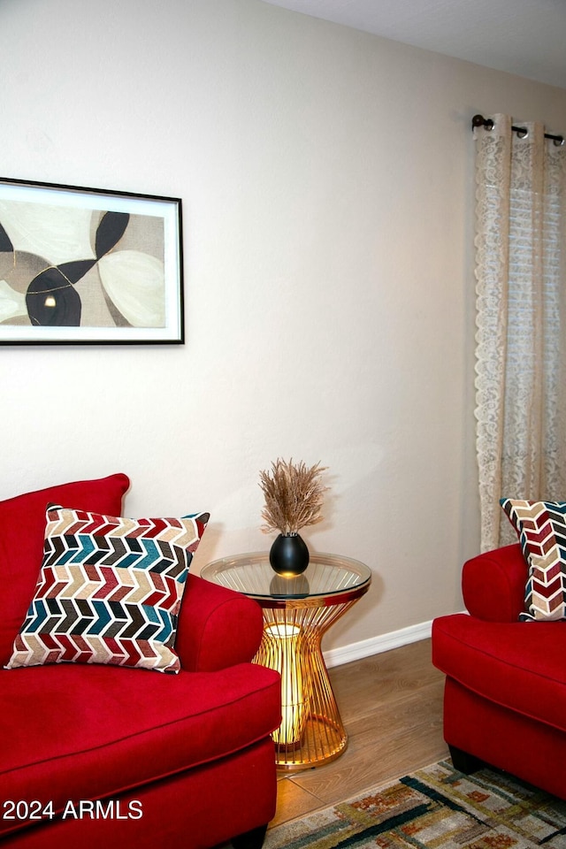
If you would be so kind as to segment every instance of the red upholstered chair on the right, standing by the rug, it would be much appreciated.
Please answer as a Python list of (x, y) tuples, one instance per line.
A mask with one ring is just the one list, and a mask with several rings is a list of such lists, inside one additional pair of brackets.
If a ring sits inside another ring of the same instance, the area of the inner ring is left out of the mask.
[(518, 622), (527, 565), (520, 545), (463, 567), (469, 615), (432, 625), (446, 678), (444, 737), (456, 769), (504, 769), (566, 799), (566, 623)]

